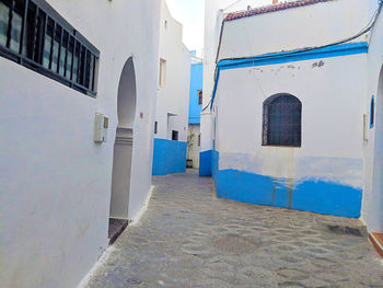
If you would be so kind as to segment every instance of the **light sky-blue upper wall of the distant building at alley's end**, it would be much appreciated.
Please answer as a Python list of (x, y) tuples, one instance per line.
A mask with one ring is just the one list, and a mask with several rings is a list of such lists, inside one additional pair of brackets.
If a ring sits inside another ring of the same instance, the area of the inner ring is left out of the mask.
[(198, 105), (198, 90), (204, 87), (204, 65), (195, 64), (190, 69), (189, 124), (200, 124), (202, 105)]

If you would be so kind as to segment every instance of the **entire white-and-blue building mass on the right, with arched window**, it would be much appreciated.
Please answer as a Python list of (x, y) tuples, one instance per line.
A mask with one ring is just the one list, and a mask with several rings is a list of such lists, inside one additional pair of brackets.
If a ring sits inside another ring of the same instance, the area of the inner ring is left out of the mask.
[(206, 4), (200, 174), (222, 198), (361, 217), (382, 232), (379, 2), (222, 7)]

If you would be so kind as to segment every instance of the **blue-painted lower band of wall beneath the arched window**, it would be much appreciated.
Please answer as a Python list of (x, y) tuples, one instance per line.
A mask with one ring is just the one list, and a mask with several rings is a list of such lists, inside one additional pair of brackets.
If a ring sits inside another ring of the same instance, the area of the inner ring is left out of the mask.
[(294, 181), (221, 170), (216, 177), (220, 198), (311, 211), (348, 218), (359, 218), (362, 191), (337, 183)]

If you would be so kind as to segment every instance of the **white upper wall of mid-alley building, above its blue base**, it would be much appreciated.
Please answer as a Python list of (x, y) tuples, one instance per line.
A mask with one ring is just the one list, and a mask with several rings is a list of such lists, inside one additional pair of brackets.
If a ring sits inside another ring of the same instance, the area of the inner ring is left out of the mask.
[(158, 89), (155, 138), (172, 140), (172, 130), (178, 140), (187, 141), (190, 54), (182, 42), (183, 26), (174, 20), (166, 2), (161, 4), (160, 59), (166, 61), (163, 87)]

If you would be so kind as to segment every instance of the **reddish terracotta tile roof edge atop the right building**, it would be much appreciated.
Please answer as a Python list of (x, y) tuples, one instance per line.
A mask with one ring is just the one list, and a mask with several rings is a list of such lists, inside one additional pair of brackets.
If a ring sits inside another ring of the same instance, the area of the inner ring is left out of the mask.
[(260, 8), (256, 8), (256, 9), (252, 9), (252, 10), (247, 10), (247, 11), (230, 13), (225, 18), (225, 21), (232, 21), (232, 20), (236, 20), (236, 19), (241, 19), (241, 18), (249, 18), (249, 16), (255, 16), (255, 15), (259, 15), (259, 14), (266, 14), (266, 13), (271, 13), (271, 12), (276, 12), (276, 11), (298, 8), (298, 7), (313, 5), (316, 3), (329, 2), (329, 1), (334, 1), (334, 0), (298, 0), (298, 1), (293, 1), (293, 2), (286, 2), (286, 3), (267, 5), (267, 7), (260, 7)]

